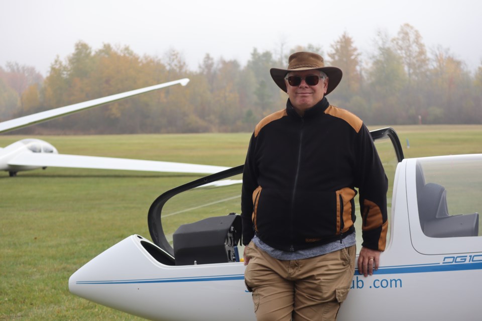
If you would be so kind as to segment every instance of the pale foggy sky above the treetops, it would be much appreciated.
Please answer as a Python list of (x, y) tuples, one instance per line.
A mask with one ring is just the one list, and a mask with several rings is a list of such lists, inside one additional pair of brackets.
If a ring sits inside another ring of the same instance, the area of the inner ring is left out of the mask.
[(313, 44), (328, 52), (347, 32), (368, 59), (378, 30), (396, 36), (408, 23), (430, 54), (435, 46), (475, 70), (482, 61), (482, 2), (390, 0), (304, 2), (277, 0), (0, 0), (0, 66), (34, 66), (44, 76), (82, 40), (129, 46), (138, 55), (179, 51), (196, 70), (206, 53), (242, 65), (253, 48), (279, 54)]

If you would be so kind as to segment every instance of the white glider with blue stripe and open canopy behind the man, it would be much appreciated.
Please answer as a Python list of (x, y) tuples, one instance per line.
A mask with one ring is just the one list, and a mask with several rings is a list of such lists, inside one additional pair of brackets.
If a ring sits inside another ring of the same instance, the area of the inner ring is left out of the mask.
[[(355, 270), (337, 320), (479, 319), (482, 154), (404, 159), (393, 129), (372, 136), (379, 152), (391, 148), (387, 137), (395, 151), (382, 157), (393, 182), (390, 237), (373, 275)], [(149, 209), (152, 241), (134, 234), (113, 245), (70, 277), (70, 291), (152, 320), (254, 321), (240, 217), (230, 213), (240, 210), (240, 186), (201, 188), (242, 172), (163, 193)]]

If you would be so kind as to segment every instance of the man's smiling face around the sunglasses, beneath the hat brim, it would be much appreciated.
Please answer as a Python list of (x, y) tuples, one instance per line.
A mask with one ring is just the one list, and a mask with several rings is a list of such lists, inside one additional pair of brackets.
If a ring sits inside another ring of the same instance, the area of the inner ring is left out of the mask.
[[(305, 78), (310, 75), (319, 76), (320, 72), (318, 70), (292, 71), (287, 76), (299, 76)], [(291, 104), (298, 113), (301, 112), (301, 115), (304, 114), (306, 109), (313, 107), (323, 99), (326, 89), (328, 88), (328, 78), (320, 78), (318, 84), (314, 86), (309, 86), (305, 79), (302, 79), (298, 86), (291, 86), (287, 80), (285, 80), (285, 82)]]

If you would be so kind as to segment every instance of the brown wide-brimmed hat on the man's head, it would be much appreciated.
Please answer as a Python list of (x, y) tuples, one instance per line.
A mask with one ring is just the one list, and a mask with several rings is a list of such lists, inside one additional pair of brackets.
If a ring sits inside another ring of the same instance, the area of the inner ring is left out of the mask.
[(342, 72), (341, 69), (336, 67), (325, 67), (323, 63), (323, 57), (318, 54), (312, 52), (296, 52), (290, 56), (288, 59), (288, 69), (278, 69), (278, 68), (271, 68), (270, 73), (271, 77), (275, 81), (275, 83), (280, 87), (284, 92), (287, 91), (286, 89), (286, 82), (285, 76), (290, 71), (296, 70), (311, 70), (316, 69), (324, 72), (328, 78), (328, 88), (326, 89), (326, 94), (328, 95), (333, 89), (341, 81)]

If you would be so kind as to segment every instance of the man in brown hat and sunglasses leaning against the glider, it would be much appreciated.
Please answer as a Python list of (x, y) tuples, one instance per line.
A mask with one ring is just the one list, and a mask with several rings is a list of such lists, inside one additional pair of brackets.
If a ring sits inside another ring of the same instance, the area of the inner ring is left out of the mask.
[(362, 120), (325, 97), (340, 69), (298, 52), (270, 72), (288, 101), (256, 126), (246, 157), (246, 285), (258, 320), (334, 320), (354, 273), (355, 187), (367, 276), (385, 249), (388, 180)]

